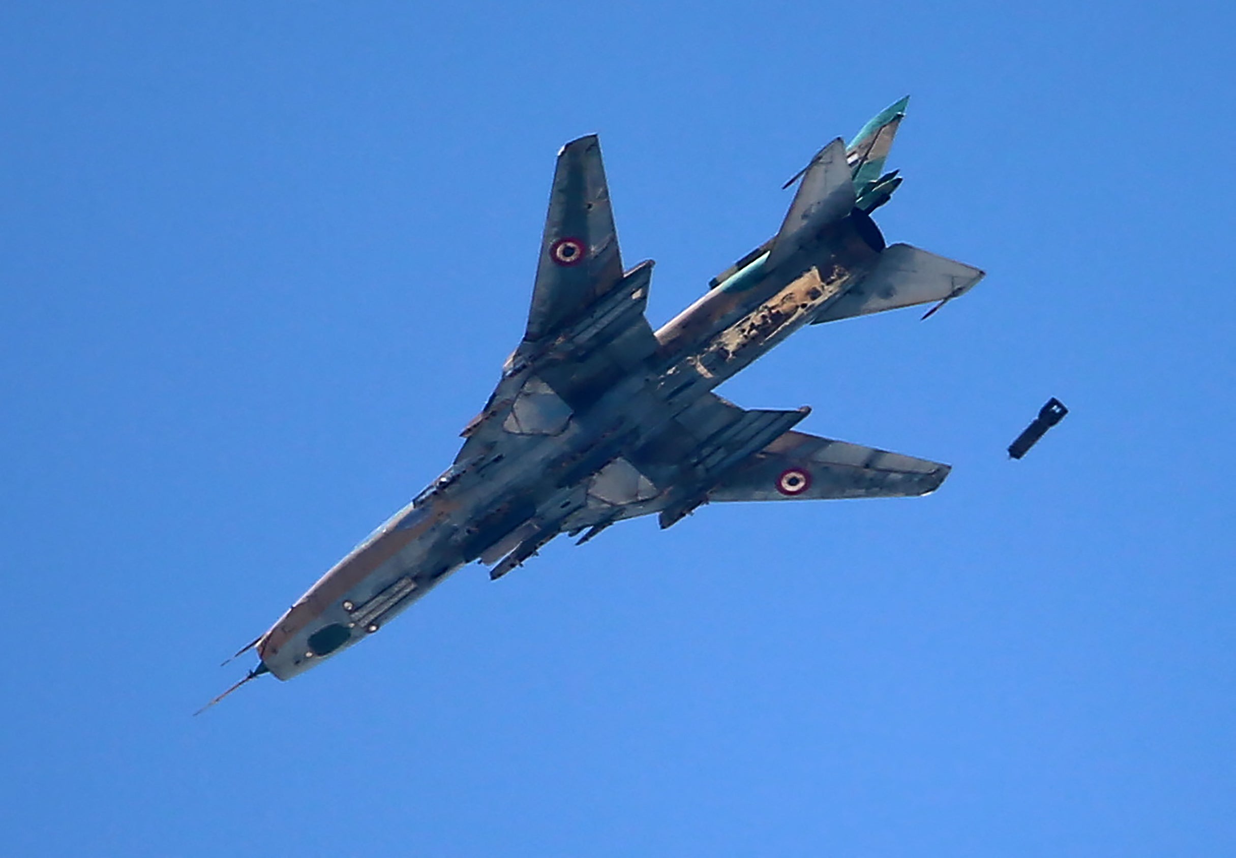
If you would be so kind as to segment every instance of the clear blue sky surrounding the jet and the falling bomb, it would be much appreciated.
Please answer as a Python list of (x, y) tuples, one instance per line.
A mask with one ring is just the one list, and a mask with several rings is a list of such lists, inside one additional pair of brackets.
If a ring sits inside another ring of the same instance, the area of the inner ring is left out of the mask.
[[(0, 853), (1230, 856), (1227, 4), (0, 7)], [(189, 713), (452, 457), (601, 134), (660, 324), (910, 94), (985, 268), (722, 391), (952, 462), (470, 566)], [(1072, 409), (1023, 461), (1049, 396)]]

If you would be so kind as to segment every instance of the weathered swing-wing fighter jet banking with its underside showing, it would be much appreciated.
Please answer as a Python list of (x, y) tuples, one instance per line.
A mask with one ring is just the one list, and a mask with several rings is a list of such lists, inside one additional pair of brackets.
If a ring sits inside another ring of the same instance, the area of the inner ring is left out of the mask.
[(623, 266), (597, 137), (564, 146), (527, 330), (462, 449), (241, 650), (261, 659), (246, 680), (304, 673), (465, 564), (497, 580), (561, 533), (585, 543), (653, 514), (667, 528), (711, 502), (934, 491), (948, 465), (797, 431), (807, 408), (744, 409), (713, 393), (806, 325), (942, 304), (983, 277), (885, 246), (871, 220), (901, 184), (884, 163), (907, 100), (816, 153), (791, 179), (776, 235), (655, 331), (644, 316), (653, 262)]

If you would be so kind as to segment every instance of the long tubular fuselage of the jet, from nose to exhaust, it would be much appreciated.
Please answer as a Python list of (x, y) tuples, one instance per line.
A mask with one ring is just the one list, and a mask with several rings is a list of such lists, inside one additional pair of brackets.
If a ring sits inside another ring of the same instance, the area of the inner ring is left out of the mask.
[[(761, 255), (664, 325), (656, 331), (654, 360), (655, 397), (669, 403), (666, 418), (810, 323), (870, 268), (883, 247), (879, 229), (855, 210), (771, 271)], [(640, 266), (628, 273), (633, 291), (646, 292), (646, 271)], [(507, 372), (512, 370), (508, 365)], [(544, 368), (514, 367), (518, 373), (538, 371)], [(666, 420), (648, 420), (661, 409), (639, 402), (648, 393), (645, 378), (643, 371), (632, 372), (572, 397), (562, 431), (527, 435), (518, 459), (497, 454), (456, 464), (279, 618), (258, 647), (262, 663), (289, 679), (377, 632), (460, 566), (502, 556), (514, 548), (507, 539), (512, 534), (531, 535), (535, 543), (538, 532), (548, 542), (572, 530), (572, 514), (587, 499), (583, 481), (624, 446), (653, 441), (666, 428)], [(595, 401), (587, 401), (593, 393)]]

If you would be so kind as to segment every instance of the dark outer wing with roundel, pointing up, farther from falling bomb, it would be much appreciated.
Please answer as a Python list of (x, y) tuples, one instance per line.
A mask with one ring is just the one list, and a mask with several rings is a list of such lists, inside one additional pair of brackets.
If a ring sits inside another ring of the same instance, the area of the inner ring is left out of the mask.
[(525, 341), (576, 320), (622, 279), (618, 234), (596, 135), (557, 155)]

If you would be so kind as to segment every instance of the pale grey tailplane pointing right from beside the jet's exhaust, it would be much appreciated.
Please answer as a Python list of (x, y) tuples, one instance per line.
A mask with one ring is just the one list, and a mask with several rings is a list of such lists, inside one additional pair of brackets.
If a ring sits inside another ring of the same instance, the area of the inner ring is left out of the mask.
[(950, 300), (983, 279), (984, 272), (910, 245), (892, 245), (863, 281), (827, 304), (812, 324), (900, 307)]

